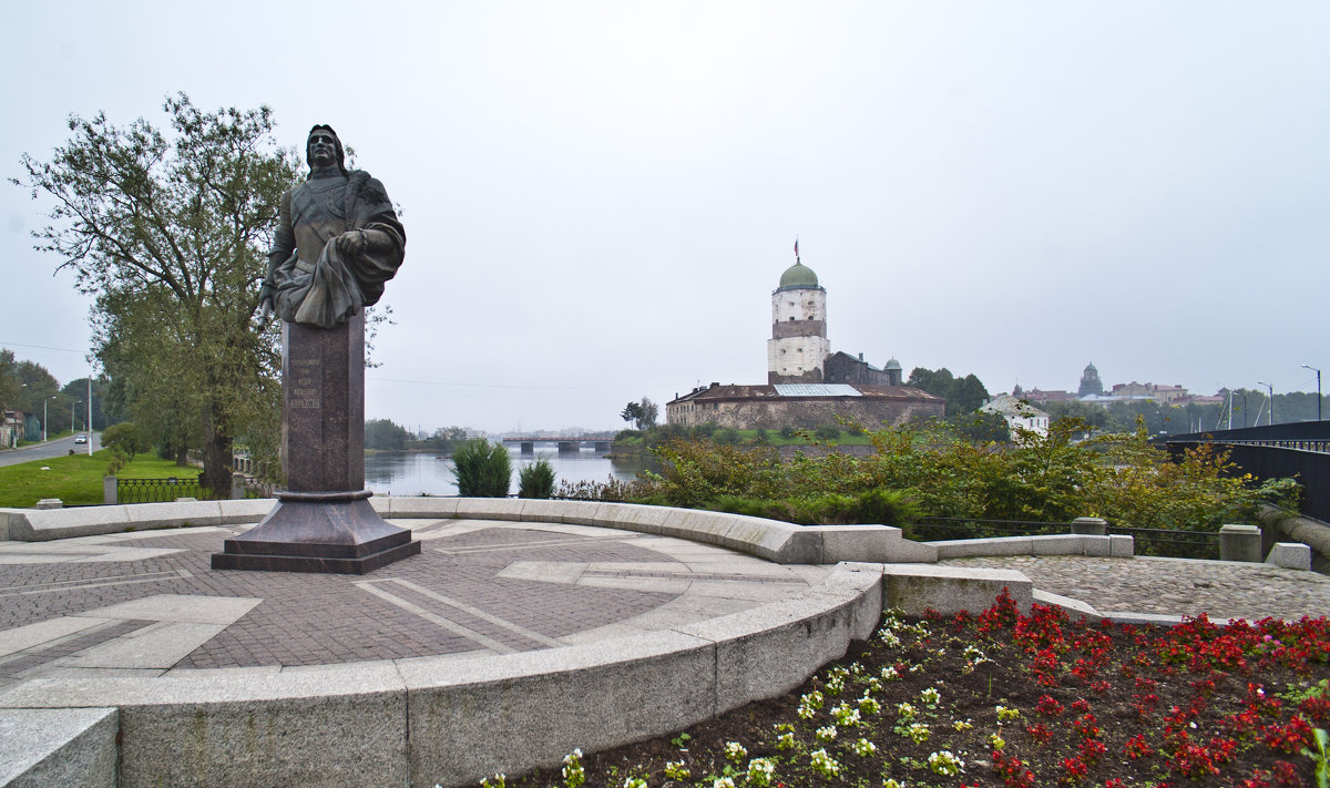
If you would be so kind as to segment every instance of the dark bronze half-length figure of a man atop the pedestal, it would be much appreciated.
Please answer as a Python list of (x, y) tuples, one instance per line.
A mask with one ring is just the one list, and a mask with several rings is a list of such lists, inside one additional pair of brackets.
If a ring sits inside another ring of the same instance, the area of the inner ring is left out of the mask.
[(347, 172), (332, 126), (310, 129), (305, 160), (310, 177), (282, 194), (259, 303), (265, 321), (275, 311), (331, 329), (379, 301), (402, 266), (407, 237), (383, 184)]

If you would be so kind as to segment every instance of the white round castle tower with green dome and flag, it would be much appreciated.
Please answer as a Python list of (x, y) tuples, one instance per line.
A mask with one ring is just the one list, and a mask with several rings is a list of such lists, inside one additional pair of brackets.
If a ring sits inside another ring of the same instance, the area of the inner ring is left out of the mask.
[(827, 342), (827, 292), (818, 276), (799, 261), (781, 274), (771, 292), (771, 338), (766, 342), (767, 383), (821, 383), (831, 354)]

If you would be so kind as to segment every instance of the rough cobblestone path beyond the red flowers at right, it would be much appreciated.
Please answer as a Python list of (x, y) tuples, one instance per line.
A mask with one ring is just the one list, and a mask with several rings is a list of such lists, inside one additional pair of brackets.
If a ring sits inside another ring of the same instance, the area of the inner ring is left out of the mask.
[(1012, 555), (938, 562), (1017, 570), (1035, 588), (1079, 599), (1099, 612), (1206, 614), (1212, 619), (1330, 615), (1330, 578), (1260, 563), (1176, 558)]

